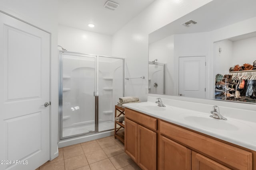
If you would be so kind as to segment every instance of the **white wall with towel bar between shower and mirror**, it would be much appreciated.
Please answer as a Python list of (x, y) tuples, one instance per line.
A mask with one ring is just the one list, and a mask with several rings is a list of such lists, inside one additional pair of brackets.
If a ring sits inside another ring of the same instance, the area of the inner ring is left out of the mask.
[(146, 76), (145, 79), (125, 80), (125, 96), (147, 100), (148, 34), (210, 1), (156, 0), (114, 34), (112, 54), (126, 58), (125, 77)]

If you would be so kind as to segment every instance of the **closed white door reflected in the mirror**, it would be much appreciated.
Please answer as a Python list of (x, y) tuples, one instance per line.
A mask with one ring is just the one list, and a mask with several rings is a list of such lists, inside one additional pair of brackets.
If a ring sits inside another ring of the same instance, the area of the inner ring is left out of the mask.
[(205, 56), (179, 57), (179, 95), (205, 98)]

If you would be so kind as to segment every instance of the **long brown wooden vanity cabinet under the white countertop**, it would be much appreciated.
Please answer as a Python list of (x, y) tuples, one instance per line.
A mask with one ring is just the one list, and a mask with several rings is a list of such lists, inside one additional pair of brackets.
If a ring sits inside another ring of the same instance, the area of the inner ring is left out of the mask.
[[(148, 170), (256, 170), (256, 152), (125, 109), (125, 152)], [(158, 141), (158, 143), (156, 143)]]

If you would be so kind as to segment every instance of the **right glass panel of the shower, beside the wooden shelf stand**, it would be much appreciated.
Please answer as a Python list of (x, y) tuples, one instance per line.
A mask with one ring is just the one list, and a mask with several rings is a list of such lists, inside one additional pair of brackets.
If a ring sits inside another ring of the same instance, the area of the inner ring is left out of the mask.
[(124, 59), (98, 56), (98, 131), (114, 129), (115, 105), (124, 95)]

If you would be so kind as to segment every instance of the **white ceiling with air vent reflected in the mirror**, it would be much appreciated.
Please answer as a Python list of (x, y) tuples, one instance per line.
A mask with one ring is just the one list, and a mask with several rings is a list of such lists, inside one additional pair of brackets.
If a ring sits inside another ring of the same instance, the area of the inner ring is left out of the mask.
[[(149, 43), (174, 34), (208, 32), (256, 16), (256, 0), (213, 0), (178, 20), (150, 33)], [(194, 20), (196, 25), (182, 23)], [(246, 35), (251, 36), (251, 35)], [(236, 40), (240, 37), (236, 37)], [(235, 39), (232, 39), (234, 41)]]

